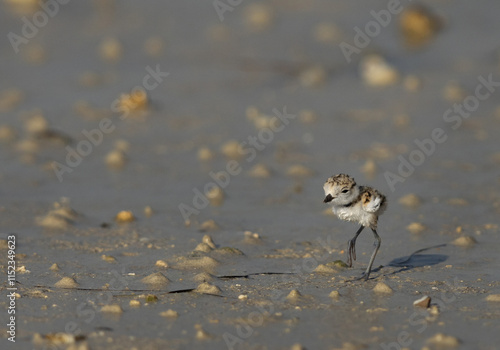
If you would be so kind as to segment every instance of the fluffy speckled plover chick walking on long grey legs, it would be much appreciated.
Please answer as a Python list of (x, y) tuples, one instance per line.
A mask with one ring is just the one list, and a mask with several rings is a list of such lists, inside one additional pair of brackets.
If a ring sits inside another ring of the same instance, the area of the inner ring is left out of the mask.
[(361, 277), (365, 280), (370, 276), (371, 268), (381, 239), (377, 233), (379, 215), (387, 208), (385, 196), (374, 188), (357, 186), (356, 181), (346, 174), (329, 177), (323, 185), (325, 191), (324, 203), (332, 205), (332, 211), (341, 220), (355, 221), (361, 225), (352, 239), (347, 242), (347, 265), (352, 267), (356, 260), (356, 239), (365, 227), (369, 227), (375, 236), (375, 249), (368, 263), (366, 272)]

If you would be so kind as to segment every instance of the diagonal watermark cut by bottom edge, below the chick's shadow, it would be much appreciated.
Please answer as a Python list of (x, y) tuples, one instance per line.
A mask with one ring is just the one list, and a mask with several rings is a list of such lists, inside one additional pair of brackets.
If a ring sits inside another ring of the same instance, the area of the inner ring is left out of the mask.
[[(440, 298), (436, 298), (433, 302), (433, 304), (437, 304), (441, 311), (446, 310), (451, 303), (457, 300), (457, 289), (460, 287), (457, 277), (454, 278), (453, 284), (447, 281), (445, 281), (445, 283), (450, 290), (442, 292)], [(408, 317), (408, 323), (412, 327), (418, 327), (416, 328), (416, 331), (418, 334), (421, 334), (427, 329), (430, 322), (427, 319), (428, 315), (429, 314), (426, 310), (415, 310), (410, 317)], [(383, 350), (402, 350), (403, 348), (409, 348), (412, 343), (413, 338), (410, 332), (402, 330), (398, 333), (396, 341), (391, 343), (380, 343), (379, 345)]]

